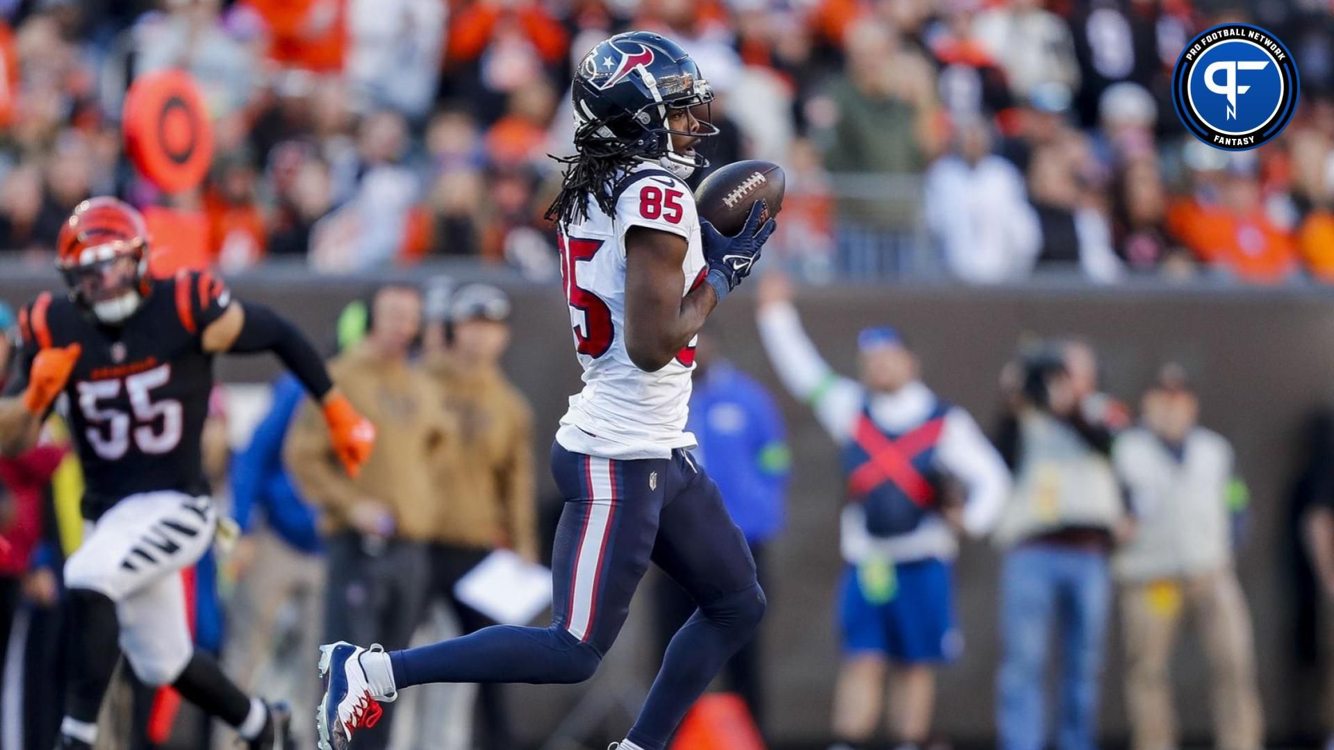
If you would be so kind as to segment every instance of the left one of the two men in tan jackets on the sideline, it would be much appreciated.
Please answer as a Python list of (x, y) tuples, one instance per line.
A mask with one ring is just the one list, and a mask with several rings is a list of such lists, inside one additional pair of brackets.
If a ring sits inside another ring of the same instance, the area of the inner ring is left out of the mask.
[[(412, 287), (380, 288), (371, 303), (366, 340), (329, 363), (339, 390), (376, 428), (376, 450), (356, 479), (329, 447), (320, 410), (305, 402), (283, 451), (300, 492), (321, 508), (328, 550), (325, 642), (383, 643), (406, 649), (430, 581), (427, 542), (439, 506), (427, 502), (436, 467), (456, 450), (436, 383), (408, 362), (422, 326), (422, 298)], [(392, 715), (358, 735), (383, 750)]]

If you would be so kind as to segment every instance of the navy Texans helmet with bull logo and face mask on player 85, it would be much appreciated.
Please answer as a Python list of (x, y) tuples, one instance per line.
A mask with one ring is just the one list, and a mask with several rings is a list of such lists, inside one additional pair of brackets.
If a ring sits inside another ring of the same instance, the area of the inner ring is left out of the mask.
[[(671, 136), (708, 137), (718, 128), (699, 120), (699, 131), (667, 127), (668, 109), (707, 105), (714, 99), (695, 60), (679, 44), (647, 31), (627, 31), (594, 47), (579, 63), (571, 91), (575, 147), (596, 156), (635, 156), (684, 167), (708, 165), (698, 151), (676, 153)], [(676, 169), (674, 169), (676, 171)]]

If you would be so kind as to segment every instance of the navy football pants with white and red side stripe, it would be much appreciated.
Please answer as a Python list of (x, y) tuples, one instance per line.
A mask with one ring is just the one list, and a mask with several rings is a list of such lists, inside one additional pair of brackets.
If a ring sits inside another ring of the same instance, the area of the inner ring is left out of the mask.
[(554, 444), (551, 471), (566, 498), (552, 552), (551, 626), (487, 627), (395, 651), (395, 683), (588, 679), (624, 625), (652, 560), (699, 607), (667, 647), (627, 735), (646, 750), (663, 750), (764, 614), (750, 548), (718, 486), (684, 451), (670, 459), (612, 460)]

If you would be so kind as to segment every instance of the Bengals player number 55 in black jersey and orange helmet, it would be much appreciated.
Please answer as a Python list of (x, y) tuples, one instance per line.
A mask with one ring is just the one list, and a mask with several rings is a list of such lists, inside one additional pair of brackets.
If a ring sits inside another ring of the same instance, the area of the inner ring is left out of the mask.
[(148, 242), (139, 211), (115, 198), (75, 208), (57, 239), (69, 294), (45, 292), (23, 308), (17, 371), (0, 398), (0, 450), (13, 452), (36, 440), (65, 394), (84, 471), (92, 527), (65, 563), (73, 638), (60, 749), (96, 742), (103, 694), (124, 653), (144, 683), (173, 686), (249, 747), (288, 750), (285, 709), (243, 694), (193, 649), (187, 627), (177, 573), (217, 527), (200, 456), (213, 356), (277, 355), (323, 404), (336, 458), (352, 475), (375, 428), (291, 323), (233, 300), (207, 272), (152, 280)]

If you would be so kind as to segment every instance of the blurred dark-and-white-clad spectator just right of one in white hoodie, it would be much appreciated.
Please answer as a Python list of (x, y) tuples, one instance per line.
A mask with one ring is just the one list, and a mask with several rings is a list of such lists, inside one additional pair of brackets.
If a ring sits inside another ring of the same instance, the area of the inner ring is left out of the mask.
[(1107, 219), (1087, 203), (1079, 173), (1079, 144), (1067, 140), (1034, 151), (1029, 164), (1029, 200), (1038, 215), (1038, 268), (1078, 268), (1085, 278), (1110, 283), (1122, 266), (1111, 247)]

